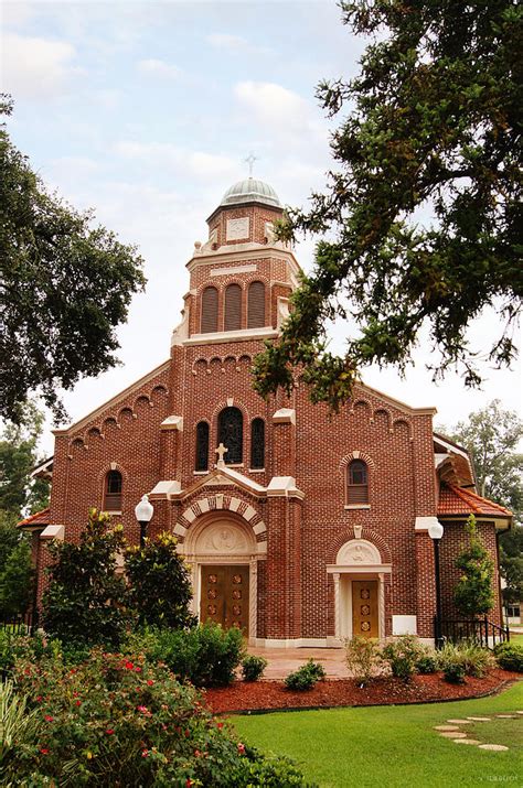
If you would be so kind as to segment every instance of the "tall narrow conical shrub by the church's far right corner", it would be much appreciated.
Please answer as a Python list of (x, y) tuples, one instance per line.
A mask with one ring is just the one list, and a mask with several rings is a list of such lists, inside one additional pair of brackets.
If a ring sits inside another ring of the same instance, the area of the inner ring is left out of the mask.
[(473, 515), (470, 515), (465, 529), (469, 543), (456, 559), (456, 566), (462, 574), (456, 585), (453, 600), (459, 613), (474, 617), (493, 607), (494, 563), (478, 533)]

